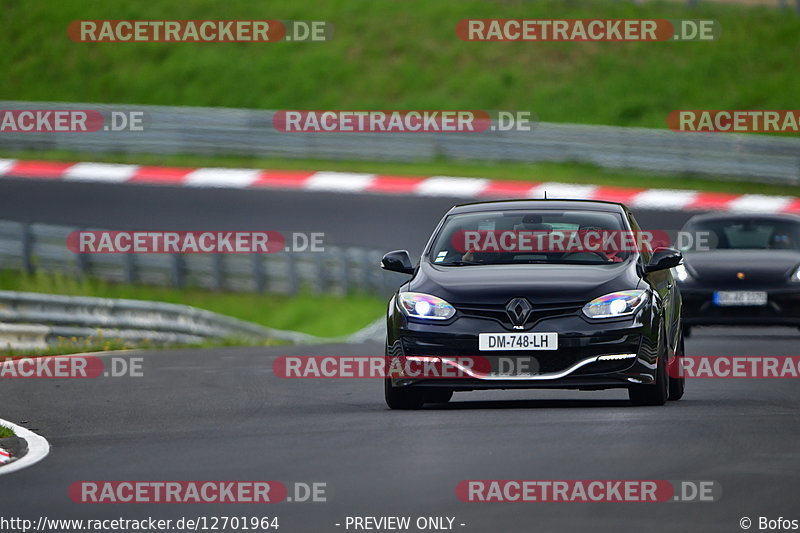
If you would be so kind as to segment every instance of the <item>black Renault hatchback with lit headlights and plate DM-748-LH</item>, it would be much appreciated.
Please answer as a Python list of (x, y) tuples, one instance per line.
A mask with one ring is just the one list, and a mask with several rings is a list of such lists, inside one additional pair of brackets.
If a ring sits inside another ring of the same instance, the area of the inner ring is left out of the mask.
[[(452, 208), (416, 266), (405, 250), (383, 257), (382, 268), (411, 275), (389, 302), (386, 353), (463, 372), (391, 375), (386, 403), (417, 409), (457, 391), (519, 388), (627, 388), (636, 405), (679, 399), (681, 296), (670, 269), (682, 256), (640, 233), (618, 203)], [(486, 364), (464, 367), (464, 357)]]

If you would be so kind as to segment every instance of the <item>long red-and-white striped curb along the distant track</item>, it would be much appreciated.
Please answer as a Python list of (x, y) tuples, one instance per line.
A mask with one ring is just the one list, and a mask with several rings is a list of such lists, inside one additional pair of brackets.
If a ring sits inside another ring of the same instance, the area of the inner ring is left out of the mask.
[(499, 181), (453, 176), (408, 177), (353, 172), (185, 168), (0, 159), (0, 177), (94, 183), (140, 183), (230, 189), (292, 189), (473, 199), (575, 198), (621, 202), (639, 209), (800, 213), (800, 198), (678, 189)]

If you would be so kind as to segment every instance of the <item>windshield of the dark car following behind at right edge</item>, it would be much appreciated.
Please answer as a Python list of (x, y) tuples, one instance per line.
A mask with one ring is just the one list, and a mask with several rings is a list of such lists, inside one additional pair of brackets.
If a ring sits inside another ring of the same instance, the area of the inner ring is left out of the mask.
[(800, 224), (791, 220), (704, 220), (687, 225), (682, 233), (682, 251), (800, 250)]

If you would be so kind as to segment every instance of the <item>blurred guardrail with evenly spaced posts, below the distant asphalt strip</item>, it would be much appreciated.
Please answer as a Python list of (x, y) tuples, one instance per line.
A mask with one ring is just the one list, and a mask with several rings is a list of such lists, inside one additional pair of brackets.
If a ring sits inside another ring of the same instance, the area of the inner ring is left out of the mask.
[(405, 279), (378, 268), (382, 251), (353, 247), (272, 254), (75, 254), (66, 241), (78, 229), (0, 220), (0, 270), (277, 294), (306, 290), (387, 296)]

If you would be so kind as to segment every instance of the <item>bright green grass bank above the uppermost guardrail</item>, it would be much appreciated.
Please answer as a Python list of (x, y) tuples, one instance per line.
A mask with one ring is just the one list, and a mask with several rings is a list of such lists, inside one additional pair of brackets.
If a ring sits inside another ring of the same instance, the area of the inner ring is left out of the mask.
[[(608, 0), (8, 0), (0, 99), (260, 109), (529, 110), (664, 128), (675, 109), (793, 109), (790, 9)], [(82, 19), (326, 20), (324, 43), (77, 43)], [(464, 18), (714, 19), (715, 41), (465, 42)]]

